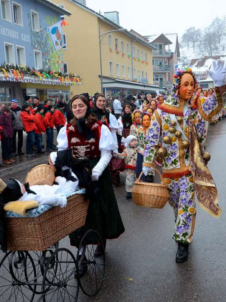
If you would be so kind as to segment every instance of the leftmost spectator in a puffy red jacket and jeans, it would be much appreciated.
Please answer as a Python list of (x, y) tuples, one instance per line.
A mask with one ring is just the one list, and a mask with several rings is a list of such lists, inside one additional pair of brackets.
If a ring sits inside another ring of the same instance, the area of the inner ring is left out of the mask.
[(34, 115), (30, 113), (29, 104), (23, 104), (21, 109), (21, 120), (24, 124), (24, 130), (27, 132), (26, 140), (26, 156), (33, 157), (36, 156), (33, 153), (34, 146), (34, 134), (37, 127), (34, 121)]

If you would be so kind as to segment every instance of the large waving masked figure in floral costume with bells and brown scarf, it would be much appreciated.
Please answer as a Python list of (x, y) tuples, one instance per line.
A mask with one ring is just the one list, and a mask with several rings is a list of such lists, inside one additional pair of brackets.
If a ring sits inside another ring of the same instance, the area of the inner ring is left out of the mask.
[[(213, 180), (212, 187), (209, 187), (207, 179), (212, 177), (206, 165), (204, 167), (204, 159), (208, 160), (208, 153), (202, 154), (200, 151), (194, 156), (194, 148), (192, 149), (195, 141), (196, 151), (198, 148), (201, 150), (206, 140), (209, 122), (221, 110), (226, 98), (224, 62), (215, 61), (208, 73), (215, 81), (215, 94), (209, 98), (200, 98), (192, 97), (196, 84), (192, 70), (188, 68), (177, 71), (171, 95), (152, 116), (145, 143), (143, 163), (145, 174), (149, 172), (154, 174), (155, 153), (158, 144), (161, 143), (162, 146), (157, 153), (163, 157), (163, 177), (171, 194), (169, 203), (175, 214), (173, 239), (178, 243), (176, 262), (184, 262), (188, 258), (188, 247), (192, 242), (196, 217), (195, 190), (202, 208), (215, 217), (221, 214), (217, 205), (217, 194), (209, 194), (208, 191), (211, 189), (216, 193)], [(195, 131), (197, 134), (192, 140), (192, 133)], [(191, 157), (194, 158), (193, 161)], [(200, 166), (202, 169), (199, 169)], [(201, 171), (199, 174), (198, 170)], [(205, 181), (202, 179), (203, 173)], [(203, 187), (203, 184), (206, 186)]]

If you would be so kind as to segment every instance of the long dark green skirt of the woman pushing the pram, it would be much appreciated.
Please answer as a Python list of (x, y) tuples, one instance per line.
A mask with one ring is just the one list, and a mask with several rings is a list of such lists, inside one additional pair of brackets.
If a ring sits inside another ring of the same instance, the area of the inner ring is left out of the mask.
[[(91, 159), (91, 167), (93, 168), (98, 161), (99, 159)], [(69, 234), (72, 246), (78, 247), (88, 230), (96, 230), (102, 239), (118, 238), (125, 231), (108, 166), (98, 179), (98, 187), (100, 189), (98, 196), (89, 200), (85, 225)], [(95, 238), (88, 241), (87, 244), (94, 243)]]

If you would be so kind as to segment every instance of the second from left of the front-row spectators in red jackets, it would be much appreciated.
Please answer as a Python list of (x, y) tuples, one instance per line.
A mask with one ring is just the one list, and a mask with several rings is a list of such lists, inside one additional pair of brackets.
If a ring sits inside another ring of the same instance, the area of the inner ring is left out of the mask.
[(37, 107), (36, 114), (34, 116), (34, 121), (37, 127), (37, 130), (35, 130), (34, 140), (37, 144), (37, 153), (45, 153), (42, 149), (42, 132), (46, 132), (44, 123), (43, 123), (43, 106), (39, 105)]

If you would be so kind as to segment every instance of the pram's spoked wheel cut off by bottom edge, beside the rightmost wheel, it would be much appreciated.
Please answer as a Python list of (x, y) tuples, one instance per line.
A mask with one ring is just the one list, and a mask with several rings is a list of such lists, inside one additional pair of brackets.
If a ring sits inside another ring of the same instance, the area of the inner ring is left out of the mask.
[(53, 252), (43, 275), (43, 301), (76, 302), (79, 285), (75, 271), (76, 259), (71, 251), (61, 248)]

